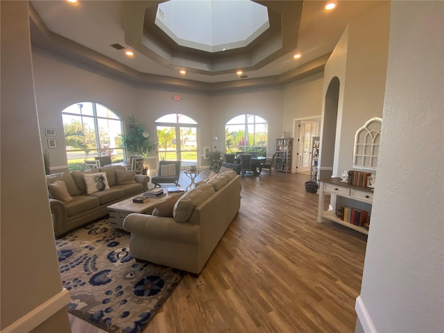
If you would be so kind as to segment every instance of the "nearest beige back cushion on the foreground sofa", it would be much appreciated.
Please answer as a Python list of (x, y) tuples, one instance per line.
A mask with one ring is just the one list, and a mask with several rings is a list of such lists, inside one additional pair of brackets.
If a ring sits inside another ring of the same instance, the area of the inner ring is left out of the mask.
[(186, 222), (193, 214), (194, 208), (210, 198), (216, 191), (212, 184), (203, 184), (187, 191), (174, 205), (173, 217), (176, 222)]

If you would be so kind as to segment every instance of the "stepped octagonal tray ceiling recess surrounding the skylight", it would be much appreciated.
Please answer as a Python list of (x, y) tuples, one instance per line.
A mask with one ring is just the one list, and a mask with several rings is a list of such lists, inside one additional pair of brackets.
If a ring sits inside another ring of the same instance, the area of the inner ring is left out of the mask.
[(163, 2), (125, 1), (123, 28), (126, 44), (171, 70), (180, 68), (206, 75), (257, 70), (298, 45), (302, 1), (254, 1), (267, 8), (269, 28), (246, 46), (216, 52), (178, 45), (162, 31), (155, 19), (157, 6)]

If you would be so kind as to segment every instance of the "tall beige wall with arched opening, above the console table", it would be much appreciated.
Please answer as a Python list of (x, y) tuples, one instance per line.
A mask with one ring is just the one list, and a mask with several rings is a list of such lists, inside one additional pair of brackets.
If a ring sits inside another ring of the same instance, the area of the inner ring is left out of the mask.
[[(356, 130), (368, 119), (382, 117), (389, 13), (389, 3), (382, 2), (375, 10), (350, 21), (325, 65), (323, 96), (334, 76), (340, 82), (333, 176), (352, 169)], [(324, 130), (331, 130), (332, 126), (330, 120), (321, 125)], [(323, 163), (324, 146), (321, 136), (321, 168), (325, 162), (330, 164), (330, 158), (328, 161), (324, 158)]]

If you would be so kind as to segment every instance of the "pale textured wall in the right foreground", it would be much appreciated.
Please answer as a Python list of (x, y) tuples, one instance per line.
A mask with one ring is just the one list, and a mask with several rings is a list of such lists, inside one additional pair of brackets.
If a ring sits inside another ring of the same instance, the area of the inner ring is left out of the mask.
[(366, 332), (372, 321), (377, 332), (444, 330), (443, 17), (443, 1), (391, 3), (382, 144), (357, 302)]

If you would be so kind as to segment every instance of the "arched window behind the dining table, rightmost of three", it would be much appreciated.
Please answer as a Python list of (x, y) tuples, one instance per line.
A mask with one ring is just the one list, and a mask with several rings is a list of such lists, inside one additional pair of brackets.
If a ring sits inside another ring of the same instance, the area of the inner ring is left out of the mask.
[(266, 156), (268, 123), (255, 114), (240, 114), (225, 123), (225, 153), (257, 151)]

